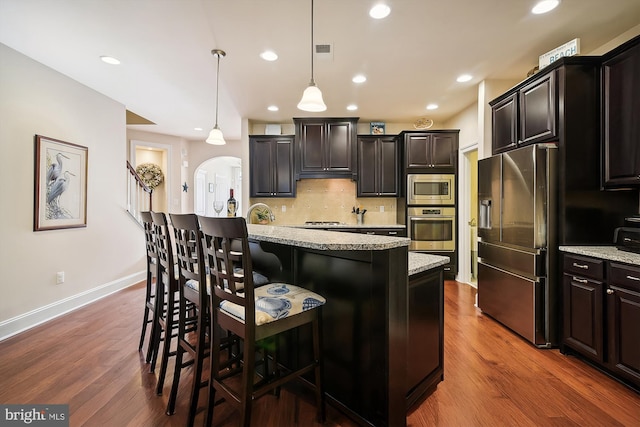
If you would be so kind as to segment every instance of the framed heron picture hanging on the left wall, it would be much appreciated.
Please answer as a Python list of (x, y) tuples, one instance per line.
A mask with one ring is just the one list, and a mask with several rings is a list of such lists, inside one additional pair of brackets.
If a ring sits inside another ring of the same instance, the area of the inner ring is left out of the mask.
[(33, 231), (87, 226), (87, 147), (36, 135)]

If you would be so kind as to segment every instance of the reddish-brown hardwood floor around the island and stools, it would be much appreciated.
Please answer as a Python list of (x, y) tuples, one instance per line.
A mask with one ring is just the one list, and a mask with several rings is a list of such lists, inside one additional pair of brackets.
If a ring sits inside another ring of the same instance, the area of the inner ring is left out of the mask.
[[(136, 285), (0, 342), (0, 403), (69, 404), (71, 426), (184, 425), (191, 371), (183, 370), (176, 414), (165, 415), (170, 378), (156, 396), (137, 351), (143, 299)], [(474, 300), (475, 289), (446, 282), (444, 381), (409, 412), (409, 426), (640, 425), (638, 393), (558, 350), (534, 348)], [(327, 409), (326, 426), (356, 425)], [(253, 425), (319, 425), (314, 416), (311, 394), (284, 390), (257, 401)], [(236, 419), (226, 404), (216, 407), (216, 426)]]

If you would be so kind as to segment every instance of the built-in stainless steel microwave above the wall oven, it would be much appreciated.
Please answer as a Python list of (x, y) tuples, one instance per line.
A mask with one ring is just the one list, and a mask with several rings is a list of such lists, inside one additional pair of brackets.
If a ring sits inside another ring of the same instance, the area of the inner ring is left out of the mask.
[(455, 205), (454, 174), (410, 174), (407, 176), (408, 205)]

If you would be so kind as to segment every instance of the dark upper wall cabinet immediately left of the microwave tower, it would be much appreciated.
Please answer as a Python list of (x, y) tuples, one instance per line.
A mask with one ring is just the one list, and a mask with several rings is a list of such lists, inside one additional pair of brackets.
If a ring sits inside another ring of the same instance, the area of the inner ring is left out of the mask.
[(398, 195), (396, 137), (358, 136), (358, 197)]

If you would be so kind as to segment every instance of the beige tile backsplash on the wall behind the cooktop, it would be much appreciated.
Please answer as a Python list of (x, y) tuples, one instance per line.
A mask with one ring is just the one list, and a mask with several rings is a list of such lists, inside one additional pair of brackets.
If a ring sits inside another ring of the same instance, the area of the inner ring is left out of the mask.
[(394, 197), (356, 197), (356, 182), (350, 179), (302, 179), (296, 198), (251, 198), (249, 203), (271, 207), (274, 225), (303, 224), (305, 221), (337, 221), (356, 224), (353, 207), (366, 209), (364, 225), (396, 224)]

